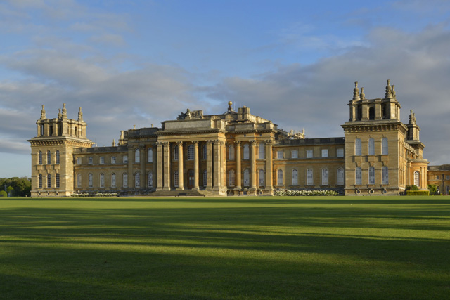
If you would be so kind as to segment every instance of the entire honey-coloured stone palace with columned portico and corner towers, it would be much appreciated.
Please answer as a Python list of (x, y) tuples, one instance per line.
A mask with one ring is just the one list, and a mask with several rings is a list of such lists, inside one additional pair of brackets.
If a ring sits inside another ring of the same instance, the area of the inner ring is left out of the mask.
[(219, 115), (186, 110), (161, 127), (121, 131), (110, 147), (93, 147), (82, 108), (54, 119), (42, 105), (32, 148), (32, 197), (73, 193), (121, 195), (274, 195), (274, 190), (337, 190), (399, 195), (428, 187), (428, 161), (411, 110), (387, 81), (384, 98), (366, 99), (355, 83), (344, 136), (305, 138), (283, 131), (249, 107)]

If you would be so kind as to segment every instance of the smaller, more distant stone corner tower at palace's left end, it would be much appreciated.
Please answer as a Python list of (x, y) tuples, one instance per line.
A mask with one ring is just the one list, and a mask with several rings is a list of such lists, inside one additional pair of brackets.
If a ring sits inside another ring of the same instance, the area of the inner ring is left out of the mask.
[(37, 136), (31, 144), (32, 197), (70, 196), (74, 191), (73, 150), (90, 148), (94, 143), (86, 138), (86, 123), (82, 107), (78, 119), (68, 119), (65, 103), (58, 117), (48, 119), (44, 105), (37, 120)]

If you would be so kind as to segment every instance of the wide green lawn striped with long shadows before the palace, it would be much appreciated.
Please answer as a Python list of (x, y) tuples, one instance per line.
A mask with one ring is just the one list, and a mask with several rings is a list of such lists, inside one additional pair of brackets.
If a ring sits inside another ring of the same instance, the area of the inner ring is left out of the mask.
[(450, 197), (0, 200), (0, 299), (449, 299)]

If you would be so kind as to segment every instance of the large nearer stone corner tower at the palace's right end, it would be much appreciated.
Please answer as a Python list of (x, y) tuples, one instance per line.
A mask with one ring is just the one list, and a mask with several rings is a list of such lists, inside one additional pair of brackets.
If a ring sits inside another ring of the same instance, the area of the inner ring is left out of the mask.
[(387, 80), (384, 98), (366, 99), (355, 82), (345, 131), (345, 195), (399, 195), (406, 183), (406, 135)]

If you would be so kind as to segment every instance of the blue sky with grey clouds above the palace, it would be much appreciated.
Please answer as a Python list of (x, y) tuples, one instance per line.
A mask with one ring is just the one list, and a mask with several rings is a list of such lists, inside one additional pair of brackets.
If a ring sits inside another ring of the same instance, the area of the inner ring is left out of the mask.
[(354, 81), (395, 84), (431, 164), (450, 163), (450, 1), (0, 1), (0, 177), (30, 176), (40, 105), (87, 135), (231, 100), (310, 138), (343, 136)]

